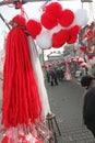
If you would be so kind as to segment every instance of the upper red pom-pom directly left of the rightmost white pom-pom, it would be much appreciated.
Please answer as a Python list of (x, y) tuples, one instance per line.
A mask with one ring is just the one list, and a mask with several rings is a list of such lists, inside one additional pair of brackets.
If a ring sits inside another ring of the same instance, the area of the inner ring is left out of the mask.
[(74, 20), (74, 13), (71, 10), (63, 10), (59, 23), (62, 26), (70, 26)]

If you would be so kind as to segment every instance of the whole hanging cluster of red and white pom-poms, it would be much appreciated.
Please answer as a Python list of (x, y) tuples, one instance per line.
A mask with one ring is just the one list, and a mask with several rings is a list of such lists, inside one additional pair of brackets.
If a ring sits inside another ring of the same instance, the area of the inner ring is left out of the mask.
[[(59, 2), (49, 2), (40, 15), (40, 22), (28, 20), (26, 28), (41, 50), (59, 48), (74, 44), (79, 32), (88, 21), (87, 11), (79, 9), (75, 12), (63, 9)], [(43, 29), (44, 28), (44, 29)]]

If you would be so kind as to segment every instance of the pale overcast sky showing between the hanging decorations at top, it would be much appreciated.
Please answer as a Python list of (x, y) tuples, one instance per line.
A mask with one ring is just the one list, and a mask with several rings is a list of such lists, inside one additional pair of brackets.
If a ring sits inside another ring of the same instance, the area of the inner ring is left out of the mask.
[[(93, 1), (95, 2), (95, 0), (93, 0)], [(94, 2), (93, 2), (93, 8), (95, 11), (95, 7), (94, 7), (95, 3)], [(28, 2), (28, 3), (24, 4), (23, 7), (24, 7), (25, 12), (26, 12), (28, 18), (39, 19), (40, 14), (41, 14), (40, 7), (43, 4), (44, 4), (44, 2)], [(61, 1), (61, 4), (62, 4), (63, 9), (71, 9), (72, 11), (75, 11), (75, 10), (82, 8), (81, 0)], [(87, 2), (83, 3), (83, 8), (86, 9), (90, 13), (90, 6)], [(11, 8), (9, 6), (2, 6), (2, 7), (0, 7), (0, 13), (9, 22), (14, 15), (20, 13), (20, 10), (16, 10), (16, 9)], [(5, 35), (7, 31), (8, 31), (8, 28), (0, 19), (0, 50), (3, 48), (3, 40), (4, 40), (4, 35)], [(52, 48), (52, 51), (54, 51), (54, 48)]]

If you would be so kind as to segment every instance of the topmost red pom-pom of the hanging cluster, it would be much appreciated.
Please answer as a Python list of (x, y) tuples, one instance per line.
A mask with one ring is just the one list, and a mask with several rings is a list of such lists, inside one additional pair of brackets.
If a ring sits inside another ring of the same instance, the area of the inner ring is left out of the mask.
[(58, 2), (51, 2), (50, 4), (46, 6), (45, 11), (55, 16), (56, 19), (61, 16), (62, 13), (62, 6)]

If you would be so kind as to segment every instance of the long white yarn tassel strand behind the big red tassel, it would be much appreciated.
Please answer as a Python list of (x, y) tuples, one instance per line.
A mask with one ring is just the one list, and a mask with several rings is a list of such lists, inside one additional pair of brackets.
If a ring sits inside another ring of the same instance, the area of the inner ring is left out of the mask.
[(31, 36), (28, 36), (28, 43), (29, 43), (31, 61), (34, 67), (37, 86), (39, 90), (39, 96), (41, 100), (41, 106), (43, 106), (43, 117), (46, 118), (46, 116), (48, 113), (51, 113), (51, 111), (50, 111), (48, 96), (47, 96), (47, 91), (46, 91), (46, 87), (44, 82), (44, 75), (43, 75), (38, 53), (36, 50), (36, 45)]

